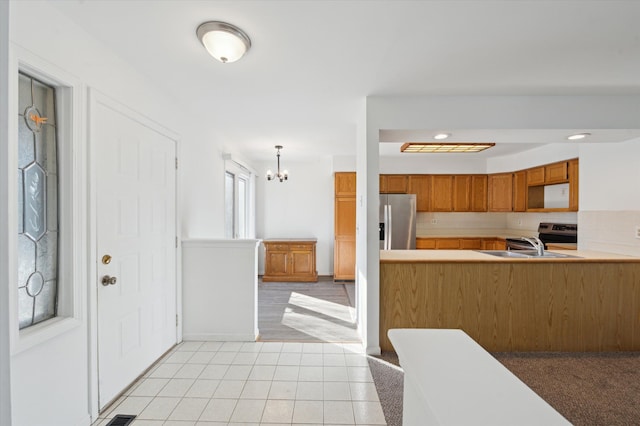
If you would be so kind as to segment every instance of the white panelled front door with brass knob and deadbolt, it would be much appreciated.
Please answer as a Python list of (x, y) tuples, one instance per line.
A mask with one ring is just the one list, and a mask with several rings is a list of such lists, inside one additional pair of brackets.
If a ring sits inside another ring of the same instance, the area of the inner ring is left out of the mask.
[(93, 105), (102, 409), (176, 343), (176, 143)]

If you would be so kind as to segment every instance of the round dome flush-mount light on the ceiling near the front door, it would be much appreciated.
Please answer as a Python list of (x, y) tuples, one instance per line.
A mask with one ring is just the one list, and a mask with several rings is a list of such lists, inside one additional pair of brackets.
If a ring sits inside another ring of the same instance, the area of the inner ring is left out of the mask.
[(222, 63), (237, 61), (251, 48), (249, 36), (226, 22), (205, 22), (196, 34), (207, 52)]

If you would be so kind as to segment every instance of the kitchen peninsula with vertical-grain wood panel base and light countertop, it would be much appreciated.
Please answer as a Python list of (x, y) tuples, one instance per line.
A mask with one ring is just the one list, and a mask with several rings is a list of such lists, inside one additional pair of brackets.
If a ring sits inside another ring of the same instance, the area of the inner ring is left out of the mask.
[(490, 352), (640, 350), (640, 258), (395, 252), (380, 254), (383, 351), (394, 328), (462, 329)]

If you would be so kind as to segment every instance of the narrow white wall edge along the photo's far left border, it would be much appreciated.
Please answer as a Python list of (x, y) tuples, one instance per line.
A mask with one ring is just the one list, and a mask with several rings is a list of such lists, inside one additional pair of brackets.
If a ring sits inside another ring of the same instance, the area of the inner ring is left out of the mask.
[[(0, 93), (9, 91), (9, 3), (0, 2)], [(9, 146), (9, 97), (0, 96), (0, 147)], [(0, 425), (11, 423), (11, 356), (9, 351), (9, 157), (0, 148)]]

